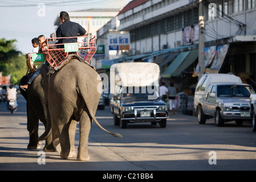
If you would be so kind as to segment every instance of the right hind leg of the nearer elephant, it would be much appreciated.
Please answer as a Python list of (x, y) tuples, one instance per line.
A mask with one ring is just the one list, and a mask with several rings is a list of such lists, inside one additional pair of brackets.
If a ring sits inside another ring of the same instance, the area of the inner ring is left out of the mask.
[(88, 154), (88, 137), (91, 130), (91, 119), (86, 111), (83, 111), (79, 119), (80, 139), (77, 160), (90, 160)]

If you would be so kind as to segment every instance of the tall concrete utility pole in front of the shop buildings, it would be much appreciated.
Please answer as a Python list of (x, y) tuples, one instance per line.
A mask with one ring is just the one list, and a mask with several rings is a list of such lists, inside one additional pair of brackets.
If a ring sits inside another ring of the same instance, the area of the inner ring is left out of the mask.
[(199, 20), (199, 42), (198, 42), (198, 65), (200, 69), (200, 74), (198, 80), (201, 76), (204, 75), (205, 65), (204, 65), (204, 32), (205, 32), (205, 20), (204, 15), (202, 14), (203, 0), (199, 0), (198, 7), (198, 20)]

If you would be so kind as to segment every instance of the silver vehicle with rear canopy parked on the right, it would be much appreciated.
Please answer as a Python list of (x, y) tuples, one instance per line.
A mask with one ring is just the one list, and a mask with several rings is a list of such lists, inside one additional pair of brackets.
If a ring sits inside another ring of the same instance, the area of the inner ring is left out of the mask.
[(242, 124), (250, 120), (250, 93), (253, 88), (242, 84), (241, 78), (228, 74), (203, 75), (196, 86), (194, 94), (194, 109), (200, 124), (206, 119), (215, 117), (217, 126), (223, 126), (225, 121)]

